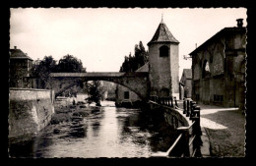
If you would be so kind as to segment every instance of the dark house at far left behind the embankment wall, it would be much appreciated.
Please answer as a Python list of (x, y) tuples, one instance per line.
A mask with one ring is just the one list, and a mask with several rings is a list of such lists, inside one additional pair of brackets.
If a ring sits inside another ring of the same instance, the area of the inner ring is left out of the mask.
[(9, 78), (11, 87), (31, 87), (32, 58), (14, 46), (10, 49)]

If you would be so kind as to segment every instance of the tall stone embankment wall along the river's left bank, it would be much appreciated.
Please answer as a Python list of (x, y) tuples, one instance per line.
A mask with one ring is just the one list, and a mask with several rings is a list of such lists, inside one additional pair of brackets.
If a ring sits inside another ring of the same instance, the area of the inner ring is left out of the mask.
[(35, 136), (54, 114), (54, 91), (10, 88), (9, 138), (20, 141)]

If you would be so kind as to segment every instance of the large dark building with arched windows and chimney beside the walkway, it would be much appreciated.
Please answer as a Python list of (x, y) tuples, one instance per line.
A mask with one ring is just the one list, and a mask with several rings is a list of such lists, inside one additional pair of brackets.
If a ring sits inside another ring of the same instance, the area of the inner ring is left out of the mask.
[(240, 107), (245, 102), (246, 28), (223, 28), (190, 53), (192, 99), (205, 104)]

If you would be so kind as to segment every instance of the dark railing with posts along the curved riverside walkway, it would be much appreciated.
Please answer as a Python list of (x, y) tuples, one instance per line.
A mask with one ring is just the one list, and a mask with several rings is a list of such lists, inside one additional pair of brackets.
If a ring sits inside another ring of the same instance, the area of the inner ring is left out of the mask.
[[(172, 106), (173, 101), (171, 98), (162, 98), (162, 97), (152, 97), (152, 99), (159, 99), (153, 100), (158, 101), (158, 103), (162, 105)], [(166, 99), (166, 100), (165, 100)], [(166, 102), (166, 101), (170, 101)], [(174, 99), (175, 105), (177, 106), (176, 99)], [(201, 139), (202, 131), (200, 125), (200, 107), (197, 106), (196, 102), (193, 101), (191, 98), (184, 98), (183, 100), (183, 114), (186, 117), (189, 117), (189, 120), (192, 121), (192, 124), (189, 127), (179, 127), (177, 131), (179, 132), (179, 136), (175, 139), (172, 145), (168, 148), (166, 152), (157, 152), (152, 154), (152, 157), (168, 157), (173, 149), (180, 144), (180, 148), (182, 148), (181, 157), (201, 157), (201, 145), (203, 141)], [(192, 131), (190, 130), (192, 129)], [(191, 131), (191, 132), (190, 132)]]

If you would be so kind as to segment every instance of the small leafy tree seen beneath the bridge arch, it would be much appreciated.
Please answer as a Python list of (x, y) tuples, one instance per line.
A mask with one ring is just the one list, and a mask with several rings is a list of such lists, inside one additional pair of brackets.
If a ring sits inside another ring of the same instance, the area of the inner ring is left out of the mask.
[(88, 103), (96, 102), (97, 106), (100, 106), (100, 100), (102, 99), (102, 85), (99, 81), (93, 81), (92, 83), (87, 83), (87, 89), (89, 97), (86, 99)]

